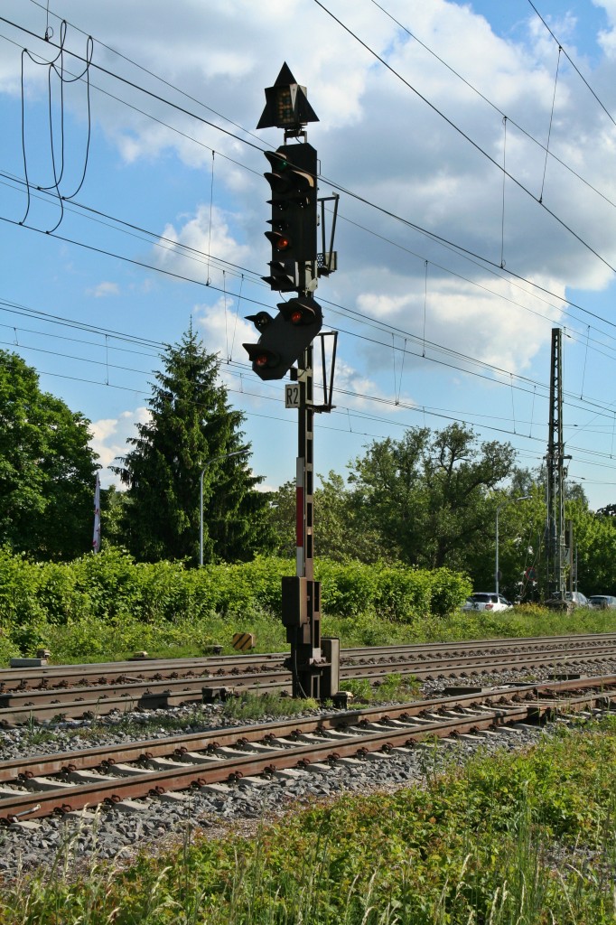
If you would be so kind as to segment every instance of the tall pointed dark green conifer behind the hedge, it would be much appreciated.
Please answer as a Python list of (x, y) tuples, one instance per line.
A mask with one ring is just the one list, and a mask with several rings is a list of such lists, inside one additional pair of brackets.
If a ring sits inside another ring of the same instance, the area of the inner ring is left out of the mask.
[[(113, 471), (128, 486), (123, 538), (141, 561), (199, 561), (203, 471), (203, 561), (245, 561), (271, 547), (263, 481), (248, 467), (244, 416), (228, 404), (220, 361), (192, 330), (166, 345), (155, 374), (150, 420)], [(237, 455), (229, 456), (229, 453)]]

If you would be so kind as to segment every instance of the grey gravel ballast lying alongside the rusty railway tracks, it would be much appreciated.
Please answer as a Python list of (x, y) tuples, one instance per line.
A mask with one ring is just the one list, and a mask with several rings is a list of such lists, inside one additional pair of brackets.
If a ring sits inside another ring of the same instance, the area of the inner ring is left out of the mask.
[[(577, 665), (574, 670), (595, 675), (610, 673), (614, 667), (605, 664), (601, 664), (600, 668), (598, 665)], [(573, 666), (569, 666), (569, 671), (573, 671)], [(547, 678), (548, 672), (536, 672), (536, 680)], [(516, 681), (519, 683), (520, 680), (529, 682), (528, 673), (525, 672), (524, 677), (516, 672), (490, 674), (489, 677), (482, 677), (480, 684), (484, 687), (501, 686)], [(448, 678), (446, 682), (426, 682), (423, 697), (438, 697), (444, 687), (456, 683), (468, 684), (469, 679), (462, 677)], [(477, 679), (474, 678), (472, 683), (476, 684)], [(306, 715), (315, 716), (319, 712), (313, 710)], [(324, 710), (323, 713), (329, 715), (331, 710)], [(199, 724), (184, 725), (181, 729), (168, 728), (165, 721), (170, 715), (184, 722), (190, 722), (193, 716), (198, 715)], [(247, 724), (243, 720), (228, 722), (223, 716), (222, 707), (216, 704), (204, 706), (198, 714), (188, 707), (131, 714), (129, 732), (122, 728), (127, 718), (126, 715), (121, 719), (110, 716), (104, 721), (99, 720), (95, 726), (90, 721), (68, 721), (34, 729), (21, 727), (2, 731), (0, 759), (50, 755), (60, 751), (134, 742), (140, 738), (164, 739), (180, 732), (196, 733)], [(266, 719), (259, 722), (266, 722)], [(153, 728), (153, 722), (160, 722), (161, 725)], [(140, 725), (143, 727), (142, 734), (139, 733)], [(50, 870), (63, 851), (68, 852), (71, 863), (79, 865), (80, 860), (93, 855), (113, 859), (123, 854), (132, 854), (140, 848), (154, 853), (160, 845), (168, 845), (173, 839), (179, 840), (189, 831), (219, 833), (221, 827), (230, 827), (240, 832), (251, 832), (255, 828), (254, 823), (279, 817), (297, 801), (305, 804), (335, 798), (344, 793), (384, 792), (421, 783), (425, 781), (426, 775), (434, 774), (449, 762), (463, 764), (479, 749), (490, 754), (503, 748), (513, 750), (532, 746), (542, 736), (550, 734), (552, 729), (550, 724), (543, 727), (516, 724), (484, 734), (464, 735), (455, 740), (445, 739), (436, 748), (416, 746), (413, 749), (396, 750), (386, 757), (368, 756), (366, 759), (339, 762), (326, 771), (315, 771), (309, 766), (302, 771), (277, 773), (270, 779), (213, 784), (198, 791), (129, 800), (96, 811), (68, 813), (64, 817), (19, 820), (0, 829), (0, 876), (10, 880), (19, 872)], [(53, 734), (53, 737), (46, 738), (45, 733)]]

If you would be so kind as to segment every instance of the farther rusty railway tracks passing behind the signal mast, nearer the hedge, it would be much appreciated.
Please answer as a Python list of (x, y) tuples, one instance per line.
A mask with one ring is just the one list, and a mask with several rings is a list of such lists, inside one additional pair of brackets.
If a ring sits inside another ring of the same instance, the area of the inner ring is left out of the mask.
[[(0, 726), (59, 718), (94, 719), (115, 710), (168, 709), (220, 692), (290, 691), (286, 653), (203, 659), (46, 665), (0, 671)], [(489, 672), (563, 672), (616, 664), (616, 635), (579, 635), (343, 649), (340, 678), (377, 685), (392, 672), (420, 680)]]

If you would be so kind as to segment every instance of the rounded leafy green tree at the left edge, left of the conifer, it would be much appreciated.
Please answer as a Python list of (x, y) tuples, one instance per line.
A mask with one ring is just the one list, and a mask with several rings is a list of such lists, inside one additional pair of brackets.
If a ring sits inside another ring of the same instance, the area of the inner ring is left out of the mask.
[(0, 351), (0, 542), (43, 560), (92, 549), (99, 466), (89, 425), (42, 392), (21, 357)]

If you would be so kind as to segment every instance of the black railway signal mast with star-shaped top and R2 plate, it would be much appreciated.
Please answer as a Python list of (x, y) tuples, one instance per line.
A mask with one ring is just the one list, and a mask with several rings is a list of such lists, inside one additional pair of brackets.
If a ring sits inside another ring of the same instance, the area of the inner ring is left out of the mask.
[[(314, 300), (318, 278), (336, 269), (332, 225), (329, 250), (317, 253), (318, 203), (317, 156), (306, 140), (305, 126), (318, 121), (300, 86), (286, 64), (273, 87), (265, 90), (265, 109), (257, 129), (284, 129), (285, 143), (266, 151), (270, 170), (272, 207), (265, 237), (272, 247), (270, 289), (295, 293), (277, 304), (278, 314), (249, 315), (260, 333), (256, 344), (244, 344), (253, 372), (262, 379), (281, 379), (290, 373), (292, 386), (285, 388), (286, 407), (298, 410), (296, 462), (296, 574), (282, 579), (282, 622), (287, 628), (294, 697), (333, 697), (339, 687), (339, 640), (321, 638), (321, 585), (314, 581), (314, 413), (331, 411), (329, 399), (314, 404), (313, 341), (323, 324), (321, 306)], [(295, 143), (288, 144), (290, 139)], [(302, 141), (301, 141), (302, 140)], [(338, 197), (333, 198), (338, 206)], [(323, 203), (322, 203), (323, 210)], [(325, 242), (324, 212), (322, 211)], [(325, 349), (323, 348), (325, 358)], [(335, 359), (335, 349), (334, 349)], [(333, 381), (333, 360), (331, 377)], [(293, 364), (297, 363), (297, 368)], [(324, 359), (324, 383), (326, 380)]]

